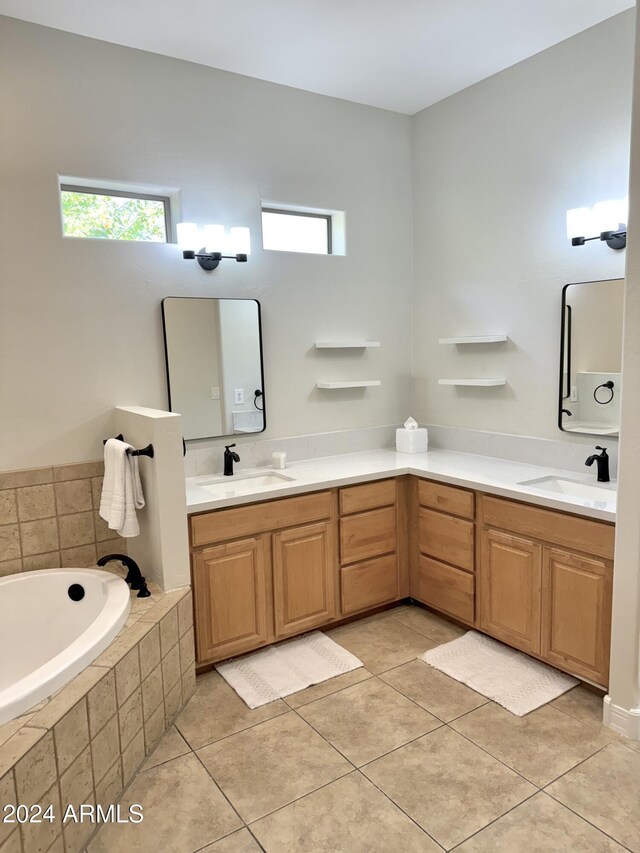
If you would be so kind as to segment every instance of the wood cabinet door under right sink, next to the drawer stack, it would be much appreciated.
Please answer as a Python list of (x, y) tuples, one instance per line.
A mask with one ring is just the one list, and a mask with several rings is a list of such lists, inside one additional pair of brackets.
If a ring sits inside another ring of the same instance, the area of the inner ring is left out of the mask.
[(480, 627), (510, 646), (538, 654), (542, 546), (497, 530), (480, 535)]

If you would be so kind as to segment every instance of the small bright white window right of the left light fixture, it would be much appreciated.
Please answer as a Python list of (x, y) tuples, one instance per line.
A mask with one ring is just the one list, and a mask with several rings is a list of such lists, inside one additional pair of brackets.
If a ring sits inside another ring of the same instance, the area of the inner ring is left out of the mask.
[(262, 248), (332, 254), (331, 214), (262, 208)]

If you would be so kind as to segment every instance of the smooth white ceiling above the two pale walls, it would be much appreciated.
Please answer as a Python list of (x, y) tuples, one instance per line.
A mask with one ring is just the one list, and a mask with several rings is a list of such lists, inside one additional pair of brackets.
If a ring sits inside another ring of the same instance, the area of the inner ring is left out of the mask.
[(413, 114), (633, 0), (0, 0), (0, 14)]

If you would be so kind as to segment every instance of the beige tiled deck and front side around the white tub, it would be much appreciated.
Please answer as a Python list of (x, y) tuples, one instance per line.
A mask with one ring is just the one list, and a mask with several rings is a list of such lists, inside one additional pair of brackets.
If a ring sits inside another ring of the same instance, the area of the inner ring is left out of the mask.
[(80, 675), (0, 727), (0, 802), (53, 804), (53, 823), (0, 824), (2, 853), (76, 853), (98, 828), (62, 825), (67, 804), (117, 802), (195, 691), (188, 588), (132, 593), (131, 615)]

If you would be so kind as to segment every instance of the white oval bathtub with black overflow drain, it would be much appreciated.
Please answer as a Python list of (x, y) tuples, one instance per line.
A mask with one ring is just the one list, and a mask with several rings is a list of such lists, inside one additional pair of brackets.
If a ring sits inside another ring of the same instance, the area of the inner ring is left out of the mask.
[(51, 696), (95, 660), (130, 608), (127, 584), (98, 569), (0, 578), (0, 724)]

